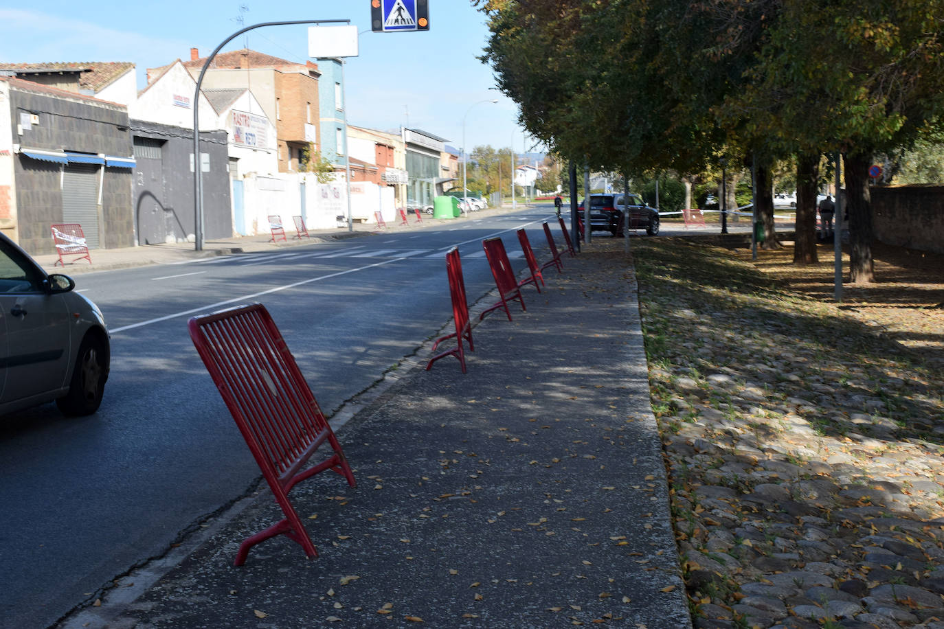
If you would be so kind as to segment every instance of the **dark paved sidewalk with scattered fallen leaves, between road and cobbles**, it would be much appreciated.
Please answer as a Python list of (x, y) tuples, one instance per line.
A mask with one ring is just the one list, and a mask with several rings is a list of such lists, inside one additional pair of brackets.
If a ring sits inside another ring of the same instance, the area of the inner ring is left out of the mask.
[(291, 494), (318, 558), (281, 536), (231, 565), (281, 517), (263, 484), (140, 596), (156, 569), (64, 626), (690, 627), (632, 272), (592, 250), (548, 271), (527, 312), (474, 328), (467, 374), (424, 371), (427, 347), (337, 429), (358, 487)]

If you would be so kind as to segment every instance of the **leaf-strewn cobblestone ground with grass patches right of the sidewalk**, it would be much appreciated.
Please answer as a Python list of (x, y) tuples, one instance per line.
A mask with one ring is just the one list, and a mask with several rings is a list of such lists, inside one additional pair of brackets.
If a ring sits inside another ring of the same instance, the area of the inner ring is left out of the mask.
[(789, 249), (632, 244), (695, 626), (944, 629), (940, 258), (836, 305)]

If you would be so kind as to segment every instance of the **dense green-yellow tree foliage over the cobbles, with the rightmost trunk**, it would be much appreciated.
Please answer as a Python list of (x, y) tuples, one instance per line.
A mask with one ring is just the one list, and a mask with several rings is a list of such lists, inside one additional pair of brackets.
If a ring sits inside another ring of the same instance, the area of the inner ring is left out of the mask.
[(871, 280), (865, 171), (940, 125), (944, 0), (472, 4), (499, 89), (561, 156), (643, 174), (841, 151), (852, 279)]

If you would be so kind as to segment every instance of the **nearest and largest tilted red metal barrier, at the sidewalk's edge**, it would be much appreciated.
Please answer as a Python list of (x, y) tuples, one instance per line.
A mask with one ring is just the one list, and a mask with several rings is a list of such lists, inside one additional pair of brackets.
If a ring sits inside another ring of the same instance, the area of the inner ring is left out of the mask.
[[(322, 414), (295, 357), (261, 304), (194, 317), (187, 324), (197, 353), (243, 434), (285, 518), (245, 538), (233, 562), (242, 566), (249, 549), (284, 534), (305, 555), (317, 550), (288, 493), (300, 481), (331, 470), (356, 486), (341, 444)], [(328, 441), (330, 455), (302, 471)]]

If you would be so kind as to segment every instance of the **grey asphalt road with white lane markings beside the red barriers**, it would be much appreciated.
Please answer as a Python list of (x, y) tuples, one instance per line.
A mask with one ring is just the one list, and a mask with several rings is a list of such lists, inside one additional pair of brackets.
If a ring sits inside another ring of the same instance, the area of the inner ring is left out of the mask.
[(548, 216), (532, 208), (78, 277), (76, 290), (109, 323), (110, 380), (90, 417), (65, 419), (45, 405), (0, 421), (0, 625), (54, 624), (254, 486), (258, 468), (196, 356), (191, 316), (265, 304), (330, 413), (447, 322), (451, 246), (462, 254), (471, 303), (494, 288), (481, 240), (502, 236), (523, 268), (514, 229), (527, 226), (546, 257), (540, 222)]

